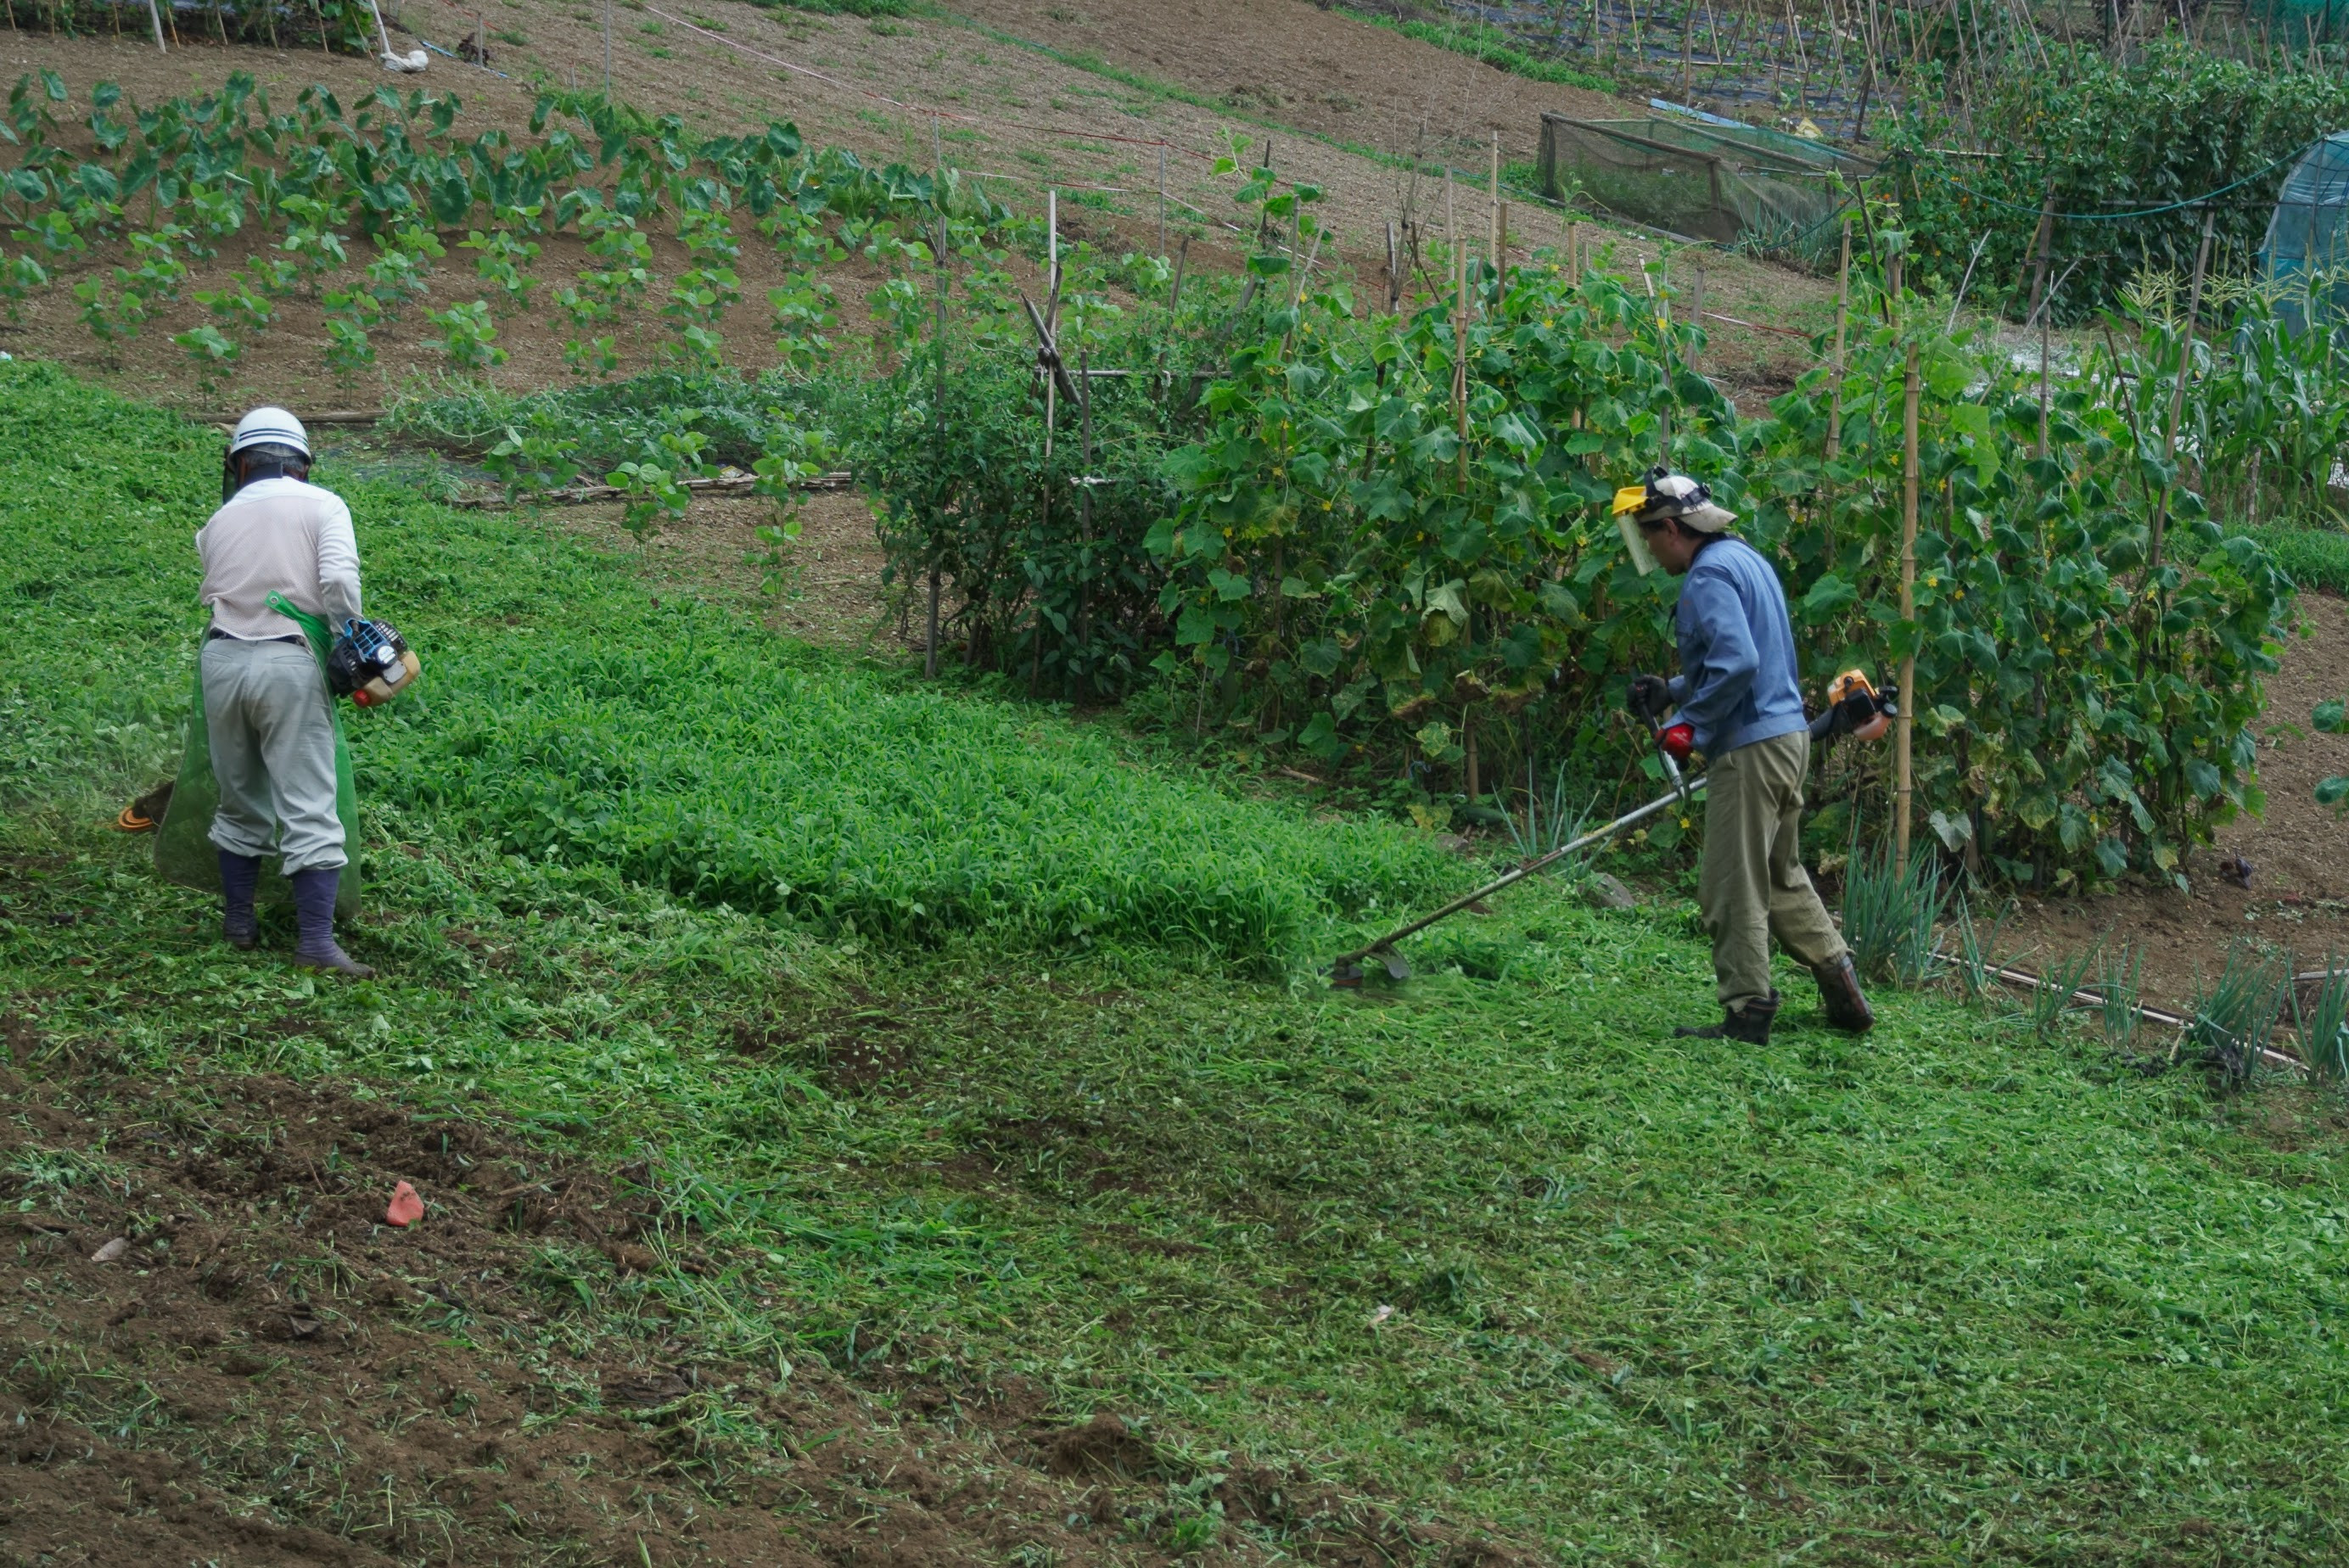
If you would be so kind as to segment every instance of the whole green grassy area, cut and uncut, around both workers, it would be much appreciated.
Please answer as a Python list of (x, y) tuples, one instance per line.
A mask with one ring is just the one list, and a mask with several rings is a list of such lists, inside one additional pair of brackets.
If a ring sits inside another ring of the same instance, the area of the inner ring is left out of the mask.
[(0, 369), (0, 1007), (45, 1052), (646, 1160), (726, 1272), (580, 1289), (665, 1345), (1118, 1411), (1184, 1455), (1160, 1545), (1240, 1530), (1200, 1476), (1268, 1465), (1560, 1563), (2349, 1556), (2330, 1103), (1938, 995), (1853, 1042), (1792, 974), (1769, 1049), (1672, 1042), (1694, 918), (1550, 885), (1332, 993), (1315, 944), (1461, 871), (655, 608), (529, 521), (352, 493), (425, 657), (359, 723), (385, 974), (228, 951), (103, 826), (176, 746), (214, 462)]

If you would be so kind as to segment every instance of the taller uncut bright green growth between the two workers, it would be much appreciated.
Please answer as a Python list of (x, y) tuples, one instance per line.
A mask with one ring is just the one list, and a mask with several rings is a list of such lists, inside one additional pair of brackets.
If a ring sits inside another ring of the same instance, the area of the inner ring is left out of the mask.
[[(61, 453), (61, 427), (89, 441)], [(0, 446), (16, 453), (0, 472), (19, 596), (0, 629), (0, 782), (143, 789), (186, 714), (202, 624), (188, 526), (214, 505), (214, 439), (7, 366)], [(524, 523), (395, 486), (350, 500), (369, 603), (430, 669), (413, 699), (352, 718), (362, 793), (500, 847), (824, 930), (1259, 965), (1463, 876), (1400, 829), (1120, 768), (1099, 730), (853, 671), (723, 608), (660, 606), (625, 563)]]

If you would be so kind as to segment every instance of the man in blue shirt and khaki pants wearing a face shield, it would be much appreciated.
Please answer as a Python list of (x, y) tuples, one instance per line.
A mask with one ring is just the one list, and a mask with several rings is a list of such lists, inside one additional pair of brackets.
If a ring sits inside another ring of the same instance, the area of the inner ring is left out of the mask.
[(1795, 681), (1795, 627), (1771, 563), (1729, 533), (1736, 514), (1687, 474), (1656, 469), (1616, 493), (1640, 542), (1680, 577), (1680, 674), (1635, 674), (1633, 711), (1680, 707), (1705, 768), (1705, 859), (1696, 904), (1712, 934), (1722, 1021), (1682, 1038), (1766, 1045), (1778, 1016), (1769, 939), (1811, 969), (1828, 1023), (1875, 1026), (1851, 948), (1802, 869), (1802, 784), (1811, 725)]

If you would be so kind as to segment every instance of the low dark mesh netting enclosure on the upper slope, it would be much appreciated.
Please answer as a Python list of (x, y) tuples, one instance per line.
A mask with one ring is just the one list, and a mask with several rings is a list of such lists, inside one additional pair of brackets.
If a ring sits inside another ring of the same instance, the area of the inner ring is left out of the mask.
[[(2349, 0), (2344, 0), (2349, 5)], [(1875, 164), (1762, 127), (1541, 117), (1541, 185), (1689, 239), (1799, 261), (1832, 256), (1858, 183)], [(1571, 181), (1571, 190), (1569, 190)]]

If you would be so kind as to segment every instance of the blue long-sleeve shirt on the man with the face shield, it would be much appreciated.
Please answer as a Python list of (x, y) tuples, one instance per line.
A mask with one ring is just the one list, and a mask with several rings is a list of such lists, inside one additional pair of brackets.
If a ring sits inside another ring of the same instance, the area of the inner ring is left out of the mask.
[(1677, 631), (1672, 702), (1698, 751), (1727, 756), (1809, 728), (1785, 589), (1752, 545), (1722, 535), (1696, 552), (1680, 580)]

